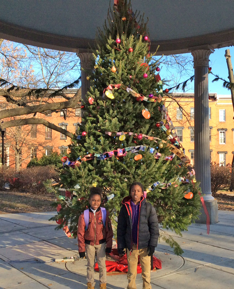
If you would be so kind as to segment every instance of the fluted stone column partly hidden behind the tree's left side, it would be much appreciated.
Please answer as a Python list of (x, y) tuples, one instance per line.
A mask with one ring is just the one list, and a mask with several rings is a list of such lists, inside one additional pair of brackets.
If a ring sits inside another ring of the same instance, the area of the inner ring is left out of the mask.
[[(79, 53), (77, 51), (76, 55), (80, 58), (80, 68), (81, 68), (81, 99), (82, 99), (82, 104), (86, 104), (87, 100), (85, 98), (86, 93), (90, 87), (90, 81), (87, 80), (87, 76), (90, 76), (93, 70), (92, 67), (92, 60), (93, 60), (93, 55), (92, 53)], [(81, 117), (83, 117), (83, 110), (81, 110)]]

